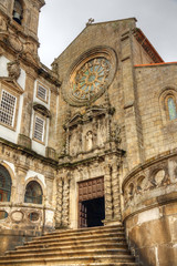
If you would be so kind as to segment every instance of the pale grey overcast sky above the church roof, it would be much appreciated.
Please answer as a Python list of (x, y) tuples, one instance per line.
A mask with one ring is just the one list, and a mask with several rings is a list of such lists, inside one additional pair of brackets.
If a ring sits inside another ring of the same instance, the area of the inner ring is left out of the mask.
[(45, 0), (39, 24), (41, 61), (50, 66), (90, 18), (102, 22), (133, 17), (159, 55), (177, 61), (177, 0)]

